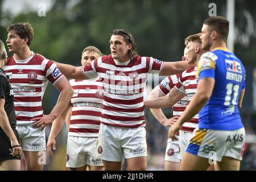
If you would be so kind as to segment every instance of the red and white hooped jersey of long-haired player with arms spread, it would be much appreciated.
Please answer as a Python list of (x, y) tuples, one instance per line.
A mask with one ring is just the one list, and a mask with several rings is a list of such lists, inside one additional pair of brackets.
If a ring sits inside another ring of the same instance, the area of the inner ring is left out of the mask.
[(143, 90), (148, 73), (160, 73), (163, 62), (135, 56), (127, 65), (116, 64), (111, 55), (82, 67), (88, 78), (100, 77), (104, 87), (101, 123), (139, 127), (144, 122)]

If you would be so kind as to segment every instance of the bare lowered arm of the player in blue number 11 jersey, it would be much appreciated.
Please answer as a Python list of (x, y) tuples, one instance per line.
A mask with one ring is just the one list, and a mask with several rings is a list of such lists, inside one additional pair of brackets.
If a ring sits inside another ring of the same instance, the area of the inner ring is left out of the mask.
[(176, 140), (175, 134), (179, 131), (184, 122), (189, 121), (194, 115), (199, 113), (203, 106), (207, 103), (210, 96), (212, 96), (215, 80), (212, 77), (205, 77), (199, 80), (197, 84), (197, 92), (189, 102), (187, 109), (180, 116), (178, 121), (171, 127), (169, 137)]

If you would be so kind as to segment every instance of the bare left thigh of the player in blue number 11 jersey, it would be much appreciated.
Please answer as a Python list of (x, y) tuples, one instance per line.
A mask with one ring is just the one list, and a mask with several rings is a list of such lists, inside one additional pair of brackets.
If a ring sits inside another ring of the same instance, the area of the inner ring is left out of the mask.
[(209, 159), (184, 152), (180, 171), (205, 171), (209, 165)]

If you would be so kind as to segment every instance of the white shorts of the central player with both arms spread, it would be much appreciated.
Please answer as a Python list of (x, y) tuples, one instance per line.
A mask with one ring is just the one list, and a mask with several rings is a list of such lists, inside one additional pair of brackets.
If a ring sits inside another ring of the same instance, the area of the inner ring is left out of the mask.
[(146, 130), (144, 126), (129, 128), (101, 123), (96, 156), (110, 162), (122, 162), (122, 158), (147, 156)]

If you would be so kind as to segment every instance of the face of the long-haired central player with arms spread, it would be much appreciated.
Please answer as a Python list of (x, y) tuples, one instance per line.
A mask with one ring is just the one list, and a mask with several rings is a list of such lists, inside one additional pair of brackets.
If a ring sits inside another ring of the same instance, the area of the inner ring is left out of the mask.
[(123, 36), (112, 35), (110, 38), (110, 51), (113, 59), (127, 61), (129, 59), (129, 45), (126, 44)]

